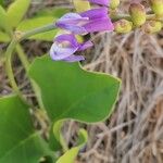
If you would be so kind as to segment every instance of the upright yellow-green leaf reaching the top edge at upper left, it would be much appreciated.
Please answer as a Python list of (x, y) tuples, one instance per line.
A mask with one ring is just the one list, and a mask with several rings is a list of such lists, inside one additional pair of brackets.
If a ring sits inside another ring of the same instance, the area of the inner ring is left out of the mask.
[(8, 9), (8, 22), (12, 27), (16, 27), (28, 10), (30, 0), (15, 0)]

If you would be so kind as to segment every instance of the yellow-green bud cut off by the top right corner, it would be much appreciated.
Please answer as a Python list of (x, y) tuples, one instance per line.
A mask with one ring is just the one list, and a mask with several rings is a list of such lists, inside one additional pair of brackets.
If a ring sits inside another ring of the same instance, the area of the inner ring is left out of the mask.
[(150, 4), (156, 15), (163, 15), (163, 0), (150, 0)]

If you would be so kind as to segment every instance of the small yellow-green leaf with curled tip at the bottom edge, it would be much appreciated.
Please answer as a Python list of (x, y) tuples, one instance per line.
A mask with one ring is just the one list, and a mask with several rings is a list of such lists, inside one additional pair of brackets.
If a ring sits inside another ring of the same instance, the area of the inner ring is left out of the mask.
[(66, 151), (58, 161), (57, 163), (74, 163), (77, 156), (78, 151), (85, 146), (88, 140), (88, 135), (85, 129), (79, 130), (79, 138), (80, 142), (77, 147), (74, 147)]

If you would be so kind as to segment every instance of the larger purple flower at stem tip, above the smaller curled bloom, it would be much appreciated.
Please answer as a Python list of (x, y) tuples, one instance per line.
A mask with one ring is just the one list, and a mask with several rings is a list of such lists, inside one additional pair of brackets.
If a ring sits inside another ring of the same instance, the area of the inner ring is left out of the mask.
[(113, 30), (106, 8), (88, 10), (80, 14), (67, 13), (57, 21), (55, 25), (73, 34), (85, 35), (93, 32)]

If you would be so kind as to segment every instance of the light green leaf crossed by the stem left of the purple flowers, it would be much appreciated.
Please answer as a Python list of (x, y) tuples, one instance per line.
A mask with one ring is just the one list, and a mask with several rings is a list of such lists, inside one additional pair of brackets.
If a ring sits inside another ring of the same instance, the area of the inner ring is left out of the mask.
[[(25, 20), (18, 25), (17, 30), (26, 32), (26, 30), (34, 29), (40, 26), (45, 26), (52, 22), (54, 22), (54, 18), (52, 16), (42, 16), (42, 17)], [(59, 29), (54, 29), (52, 32), (38, 34), (35, 36), (32, 36), (29, 39), (52, 41), (58, 32)]]

